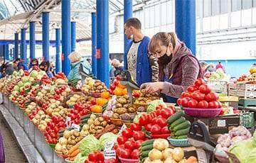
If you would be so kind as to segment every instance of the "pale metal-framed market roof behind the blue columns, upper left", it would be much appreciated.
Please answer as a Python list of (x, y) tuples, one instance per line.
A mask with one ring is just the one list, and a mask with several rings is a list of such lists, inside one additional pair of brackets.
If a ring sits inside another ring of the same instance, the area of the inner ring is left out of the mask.
[[(50, 40), (55, 40), (55, 28), (61, 26), (61, 0), (9, 0), (0, 1), (0, 40), (14, 40), (14, 33), (36, 22), (36, 40), (41, 40), (43, 11), (50, 11)], [(134, 6), (145, 5), (149, 0), (133, 0)], [(122, 13), (123, 0), (110, 0), (110, 15)], [(91, 37), (91, 12), (96, 11), (96, 0), (71, 0), (71, 18), (77, 22), (77, 40)], [(26, 40), (29, 38), (26, 30)]]

